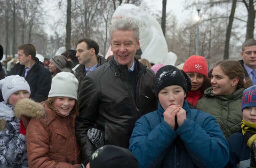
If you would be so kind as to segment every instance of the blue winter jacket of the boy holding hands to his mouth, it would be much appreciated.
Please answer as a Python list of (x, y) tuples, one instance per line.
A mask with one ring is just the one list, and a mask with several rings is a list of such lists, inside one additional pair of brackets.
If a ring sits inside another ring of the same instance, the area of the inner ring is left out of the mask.
[(224, 167), (229, 160), (228, 143), (216, 119), (190, 109), (184, 101), (187, 119), (174, 131), (163, 119), (164, 110), (142, 116), (130, 138), (129, 150), (140, 168)]

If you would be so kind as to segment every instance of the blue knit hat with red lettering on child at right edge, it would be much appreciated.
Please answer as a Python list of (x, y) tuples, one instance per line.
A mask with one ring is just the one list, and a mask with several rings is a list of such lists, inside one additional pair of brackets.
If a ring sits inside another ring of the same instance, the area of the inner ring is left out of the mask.
[(256, 106), (256, 85), (251, 86), (243, 91), (242, 111), (245, 107)]

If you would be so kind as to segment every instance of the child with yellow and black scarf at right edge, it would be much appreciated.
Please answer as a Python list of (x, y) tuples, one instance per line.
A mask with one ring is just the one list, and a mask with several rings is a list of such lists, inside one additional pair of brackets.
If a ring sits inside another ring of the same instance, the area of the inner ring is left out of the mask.
[(256, 167), (256, 85), (243, 91), (242, 132), (228, 138), (229, 162), (226, 167)]

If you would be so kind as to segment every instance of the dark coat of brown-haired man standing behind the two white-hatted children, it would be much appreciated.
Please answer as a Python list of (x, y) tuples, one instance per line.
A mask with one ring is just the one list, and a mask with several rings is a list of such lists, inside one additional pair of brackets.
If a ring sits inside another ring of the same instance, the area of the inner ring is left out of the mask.
[[(42, 62), (36, 57), (36, 63), (30, 69), (26, 76), (31, 90), (30, 98), (36, 102), (45, 101), (51, 89), (52, 76), (48, 69), (46, 69)], [(10, 71), (9, 75), (25, 75), (25, 66), (17, 63)]]

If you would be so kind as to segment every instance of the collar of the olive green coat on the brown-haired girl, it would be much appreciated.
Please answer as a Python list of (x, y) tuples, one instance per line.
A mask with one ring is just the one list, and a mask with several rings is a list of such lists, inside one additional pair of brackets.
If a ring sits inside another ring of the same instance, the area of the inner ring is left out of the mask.
[(243, 91), (244, 91), (244, 88), (240, 88), (240, 89), (237, 89), (236, 91), (234, 91), (230, 95), (217, 95), (217, 96), (215, 96), (213, 94), (213, 89), (212, 89), (212, 86), (211, 86), (211, 87), (205, 89), (204, 96), (206, 96), (206, 97), (216, 97), (216, 98), (219, 98), (219, 99), (222, 99), (222, 100), (236, 100), (236, 99), (242, 98)]

